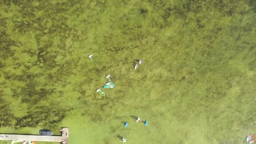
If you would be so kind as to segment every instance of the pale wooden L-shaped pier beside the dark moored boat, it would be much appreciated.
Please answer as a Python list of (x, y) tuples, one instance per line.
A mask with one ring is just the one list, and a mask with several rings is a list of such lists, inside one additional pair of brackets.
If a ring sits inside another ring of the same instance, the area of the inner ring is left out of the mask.
[(51, 141), (60, 142), (61, 144), (68, 144), (69, 129), (62, 128), (61, 136), (41, 136), (41, 135), (22, 135), (22, 134), (0, 134), (2, 141)]

